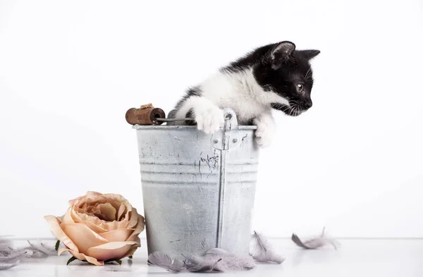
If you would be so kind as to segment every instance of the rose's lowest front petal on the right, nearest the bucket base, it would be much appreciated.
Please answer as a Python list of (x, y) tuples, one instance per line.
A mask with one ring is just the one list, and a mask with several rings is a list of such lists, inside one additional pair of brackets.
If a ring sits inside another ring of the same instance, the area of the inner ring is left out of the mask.
[(109, 242), (104, 245), (91, 247), (87, 255), (98, 260), (121, 259), (137, 242)]

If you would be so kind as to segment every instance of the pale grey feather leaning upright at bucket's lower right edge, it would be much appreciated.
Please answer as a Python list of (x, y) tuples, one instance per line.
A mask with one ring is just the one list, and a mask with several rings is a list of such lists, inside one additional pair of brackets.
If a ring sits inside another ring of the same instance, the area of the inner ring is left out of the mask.
[(254, 235), (252, 235), (252, 240), (250, 242), (250, 255), (256, 261), (262, 262), (271, 261), (276, 264), (281, 264), (285, 260), (281, 255), (276, 254), (266, 238), (256, 231), (254, 231)]

